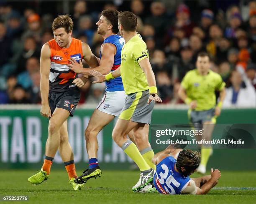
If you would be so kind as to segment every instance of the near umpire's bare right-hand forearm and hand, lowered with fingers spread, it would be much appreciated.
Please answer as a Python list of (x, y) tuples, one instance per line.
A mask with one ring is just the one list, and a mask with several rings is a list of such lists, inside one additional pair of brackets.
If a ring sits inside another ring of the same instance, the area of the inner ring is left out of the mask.
[[(141, 69), (146, 75), (146, 79), (148, 82), (149, 87), (155, 87), (156, 86), (156, 78), (154, 75), (154, 72), (152, 70), (152, 67), (150, 65), (149, 59), (146, 57), (145, 59), (141, 60), (139, 62), (139, 65), (141, 66)], [(151, 101), (157, 101), (157, 102), (162, 102), (161, 98), (157, 95), (157, 93), (151, 93), (148, 99), (148, 104)]]

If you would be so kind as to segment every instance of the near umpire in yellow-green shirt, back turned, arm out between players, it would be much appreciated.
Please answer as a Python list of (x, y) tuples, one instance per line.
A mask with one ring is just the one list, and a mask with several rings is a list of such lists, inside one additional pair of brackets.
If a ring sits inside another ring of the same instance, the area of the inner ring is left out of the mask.
[(108, 75), (102, 75), (95, 70), (90, 73), (97, 77), (95, 81), (97, 83), (122, 76), (127, 97), (113, 129), (112, 138), (133, 159), (141, 171), (139, 181), (132, 188), (133, 191), (138, 191), (153, 180), (154, 171), (151, 166), (154, 164), (143, 158), (136, 145), (127, 138), (127, 134), (133, 129), (135, 134), (148, 138), (148, 124), (151, 123), (154, 102), (162, 102), (162, 100), (157, 95), (155, 75), (148, 59), (146, 43), (136, 32), (136, 15), (128, 11), (120, 12), (118, 25), (120, 34), (125, 40), (121, 53), (121, 66)]

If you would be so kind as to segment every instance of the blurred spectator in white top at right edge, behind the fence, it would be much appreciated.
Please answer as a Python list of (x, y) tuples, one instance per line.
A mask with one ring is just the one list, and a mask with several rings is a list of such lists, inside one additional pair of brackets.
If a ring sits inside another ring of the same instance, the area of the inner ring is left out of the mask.
[(231, 72), (231, 86), (226, 89), (223, 107), (256, 107), (256, 92), (242, 67)]

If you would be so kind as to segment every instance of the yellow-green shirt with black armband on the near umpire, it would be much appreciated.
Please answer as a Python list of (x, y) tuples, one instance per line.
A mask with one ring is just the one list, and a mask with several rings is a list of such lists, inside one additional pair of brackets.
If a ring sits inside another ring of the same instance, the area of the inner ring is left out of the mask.
[(121, 77), (127, 95), (149, 89), (146, 75), (139, 65), (139, 62), (146, 57), (148, 57), (148, 49), (141, 35), (135, 35), (123, 45)]

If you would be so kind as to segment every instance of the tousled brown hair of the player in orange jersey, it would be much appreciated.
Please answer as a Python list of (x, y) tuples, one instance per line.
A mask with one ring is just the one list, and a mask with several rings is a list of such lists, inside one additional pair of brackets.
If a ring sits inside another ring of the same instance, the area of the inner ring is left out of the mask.
[(54, 19), (51, 28), (54, 31), (58, 28), (64, 27), (65, 31), (69, 33), (69, 31), (73, 30), (73, 26), (74, 24), (70, 15), (59, 15)]

